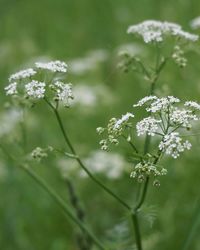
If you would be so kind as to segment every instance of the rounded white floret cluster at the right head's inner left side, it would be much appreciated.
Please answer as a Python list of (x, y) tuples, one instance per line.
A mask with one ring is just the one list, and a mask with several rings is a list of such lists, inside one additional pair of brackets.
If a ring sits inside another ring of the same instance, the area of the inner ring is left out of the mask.
[(156, 120), (152, 117), (147, 117), (141, 120), (136, 124), (137, 135), (148, 134), (154, 136), (158, 130), (158, 124), (161, 123), (161, 120)]

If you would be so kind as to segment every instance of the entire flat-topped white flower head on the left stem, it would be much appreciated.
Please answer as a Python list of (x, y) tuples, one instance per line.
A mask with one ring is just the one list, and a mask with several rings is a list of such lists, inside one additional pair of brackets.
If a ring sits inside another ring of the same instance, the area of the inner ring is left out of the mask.
[[(49, 81), (37, 78), (41, 77), (38, 73), (38, 69), (51, 71), (53, 73), (66, 73), (67, 64), (61, 61), (51, 61), (48, 63), (37, 62), (36, 68), (28, 68), (26, 70), (19, 71), (9, 77), (10, 84), (4, 89), (6, 95), (19, 95), (21, 97), (31, 99), (42, 99), (44, 97), (50, 97), (56, 101), (61, 101), (65, 106), (69, 106), (70, 100), (73, 99), (72, 85), (59, 81), (58, 75)], [(48, 74), (48, 72), (47, 72)], [(37, 76), (36, 79), (32, 79)], [(42, 76), (43, 77), (43, 76)], [(22, 81), (23, 80), (23, 81)], [(14, 81), (14, 82), (12, 82)], [(54, 94), (54, 96), (52, 96)]]

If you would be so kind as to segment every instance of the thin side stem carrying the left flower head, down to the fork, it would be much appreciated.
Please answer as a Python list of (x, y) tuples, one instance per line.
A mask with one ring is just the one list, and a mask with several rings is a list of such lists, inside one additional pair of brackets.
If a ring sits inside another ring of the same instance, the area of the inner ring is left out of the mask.
[(58, 112), (58, 110), (48, 101), (45, 99), (45, 101), (48, 103), (48, 105), (52, 108), (52, 110), (55, 113), (57, 122), (59, 124), (59, 127), (61, 129), (61, 132), (63, 134), (63, 137), (65, 139), (66, 144), (68, 145), (68, 147), (70, 148), (71, 152), (76, 155), (77, 157), (75, 157), (74, 159), (78, 162), (78, 164), (82, 167), (82, 169), (87, 173), (87, 175), (97, 184), (99, 185), (102, 189), (104, 189), (104, 191), (106, 191), (109, 195), (111, 195), (113, 198), (115, 198), (122, 206), (124, 206), (126, 209), (128, 209), (129, 211), (131, 210), (131, 207), (125, 202), (123, 201), (118, 195), (116, 195), (112, 190), (110, 190), (107, 186), (105, 186), (100, 180), (98, 180), (89, 170), (88, 168), (84, 165), (84, 163), (82, 162), (82, 160), (79, 158), (79, 156), (76, 154), (76, 151), (74, 149), (74, 147), (72, 146), (72, 143), (69, 139), (69, 137), (67, 136), (64, 126), (63, 126), (63, 122), (61, 120), (60, 114)]

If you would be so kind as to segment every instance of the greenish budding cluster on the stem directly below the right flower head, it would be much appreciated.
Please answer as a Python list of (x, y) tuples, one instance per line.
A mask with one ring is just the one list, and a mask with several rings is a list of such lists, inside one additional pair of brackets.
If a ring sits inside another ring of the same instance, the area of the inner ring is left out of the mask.
[[(152, 176), (153, 178), (158, 176), (163, 176), (167, 174), (167, 169), (157, 166), (151, 161), (139, 162), (134, 166), (134, 170), (131, 172), (131, 178), (137, 178), (138, 182), (145, 181), (147, 176)], [(158, 180), (155, 180), (157, 183)]]

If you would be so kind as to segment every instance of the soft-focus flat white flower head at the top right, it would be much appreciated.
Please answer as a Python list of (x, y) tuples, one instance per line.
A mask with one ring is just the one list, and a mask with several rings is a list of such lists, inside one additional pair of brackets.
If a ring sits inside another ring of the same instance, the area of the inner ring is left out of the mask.
[(182, 27), (175, 23), (147, 20), (142, 23), (132, 25), (127, 32), (138, 34), (145, 43), (164, 41), (165, 36), (177, 37), (184, 41), (195, 42), (198, 36), (182, 30)]

